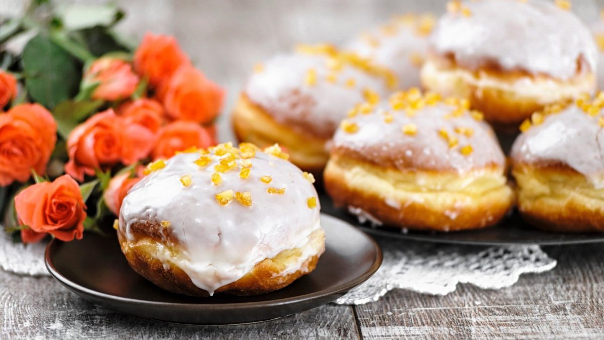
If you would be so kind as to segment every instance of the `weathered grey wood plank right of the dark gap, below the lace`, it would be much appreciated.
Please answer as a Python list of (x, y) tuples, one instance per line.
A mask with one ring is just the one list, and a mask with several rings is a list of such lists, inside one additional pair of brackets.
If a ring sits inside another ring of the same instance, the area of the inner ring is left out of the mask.
[(367, 338), (602, 338), (604, 247), (548, 247), (558, 266), (507, 289), (446, 296), (397, 290), (356, 307)]

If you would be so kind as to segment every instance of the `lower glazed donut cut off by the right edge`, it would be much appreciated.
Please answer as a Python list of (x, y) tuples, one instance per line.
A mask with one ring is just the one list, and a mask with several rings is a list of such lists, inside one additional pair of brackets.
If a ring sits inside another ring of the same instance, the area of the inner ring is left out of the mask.
[(604, 232), (604, 93), (522, 124), (512, 148), (518, 209), (541, 229)]

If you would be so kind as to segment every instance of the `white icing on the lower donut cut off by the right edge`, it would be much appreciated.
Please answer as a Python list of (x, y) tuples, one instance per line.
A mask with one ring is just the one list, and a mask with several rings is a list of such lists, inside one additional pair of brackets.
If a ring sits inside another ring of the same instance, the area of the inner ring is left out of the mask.
[(545, 117), (543, 123), (523, 132), (512, 146), (518, 163), (560, 162), (585, 175), (597, 188), (604, 187), (603, 111), (588, 116), (576, 105)]

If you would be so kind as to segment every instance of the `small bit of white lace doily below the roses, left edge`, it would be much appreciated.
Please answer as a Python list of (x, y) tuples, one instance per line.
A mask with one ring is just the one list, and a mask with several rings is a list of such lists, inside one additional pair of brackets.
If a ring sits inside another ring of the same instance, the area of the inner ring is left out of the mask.
[(14, 243), (0, 226), (0, 268), (21, 275), (50, 275), (44, 265), (46, 242)]

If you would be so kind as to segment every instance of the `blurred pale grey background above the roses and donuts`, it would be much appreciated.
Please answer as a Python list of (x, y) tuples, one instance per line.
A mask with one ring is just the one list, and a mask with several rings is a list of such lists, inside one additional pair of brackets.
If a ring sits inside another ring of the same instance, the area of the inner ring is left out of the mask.
[[(230, 111), (255, 64), (296, 44), (342, 44), (394, 15), (445, 11), (446, 0), (53, 0), (59, 4), (115, 3), (126, 17), (117, 30), (133, 41), (146, 31), (176, 36), (208, 77), (228, 91), (220, 140), (233, 140)], [(514, 0), (510, 0), (514, 1)], [(551, 0), (553, 1), (553, 0)], [(27, 0), (0, 0), (0, 17), (13, 16)], [(585, 22), (600, 18), (604, 0), (574, 0)]]

